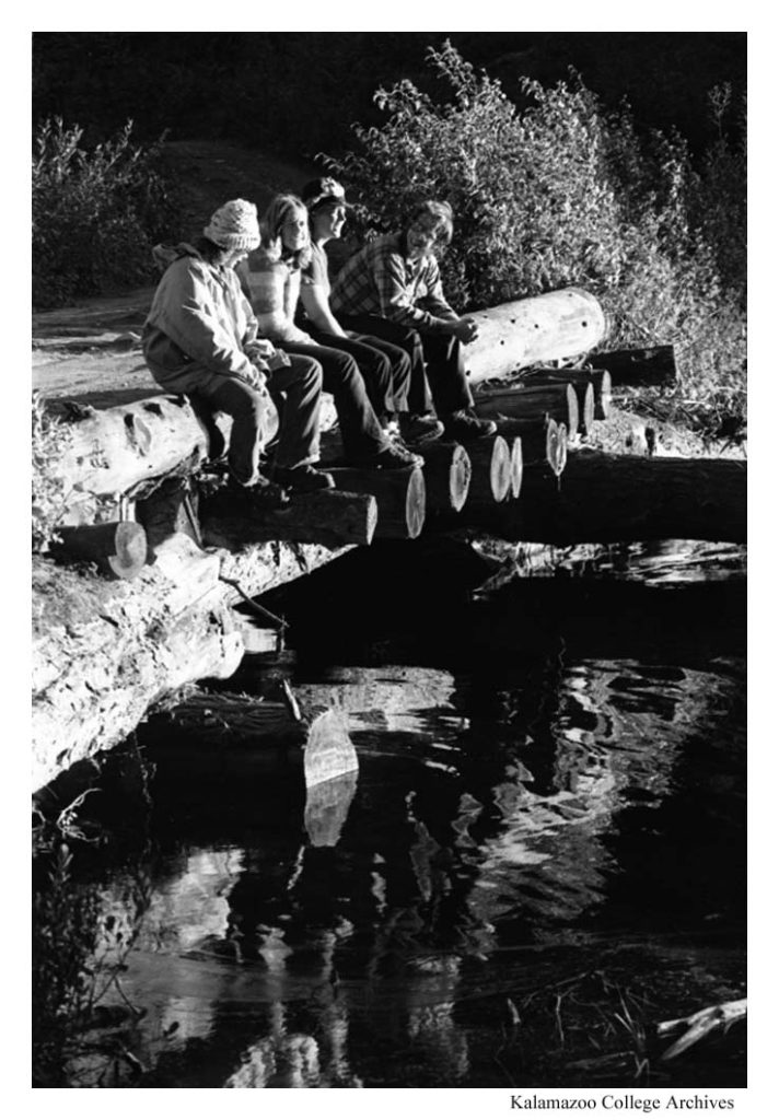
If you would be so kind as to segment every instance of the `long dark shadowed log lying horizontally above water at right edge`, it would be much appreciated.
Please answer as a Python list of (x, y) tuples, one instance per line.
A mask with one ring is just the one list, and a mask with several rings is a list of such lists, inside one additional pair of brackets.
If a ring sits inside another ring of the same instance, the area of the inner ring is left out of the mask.
[(746, 540), (746, 464), (571, 452), (559, 491), (474, 510), (474, 523), (507, 541), (548, 544), (686, 539)]

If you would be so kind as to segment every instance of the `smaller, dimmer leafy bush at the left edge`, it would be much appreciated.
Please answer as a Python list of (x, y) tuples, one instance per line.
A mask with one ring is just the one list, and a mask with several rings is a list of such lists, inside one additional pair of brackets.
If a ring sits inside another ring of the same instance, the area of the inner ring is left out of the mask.
[(157, 172), (160, 143), (132, 147), (132, 123), (91, 150), (83, 130), (47, 119), (33, 156), (33, 304), (61, 306), (76, 296), (154, 278), (151, 245), (170, 234), (175, 205)]

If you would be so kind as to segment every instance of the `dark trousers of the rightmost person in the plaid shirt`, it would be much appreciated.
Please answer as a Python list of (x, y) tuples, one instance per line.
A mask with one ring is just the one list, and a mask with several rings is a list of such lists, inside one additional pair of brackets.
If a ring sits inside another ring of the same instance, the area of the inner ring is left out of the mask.
[(449, 416), (473, 404), (462, 345), (454, 335), (416, 330), (378, 315), (340, 315), (339, 321), (344, 330), (374, 335), (406, 351), (411, 358), (409, 412), (423, 416), (435, 407), (438, 416)]

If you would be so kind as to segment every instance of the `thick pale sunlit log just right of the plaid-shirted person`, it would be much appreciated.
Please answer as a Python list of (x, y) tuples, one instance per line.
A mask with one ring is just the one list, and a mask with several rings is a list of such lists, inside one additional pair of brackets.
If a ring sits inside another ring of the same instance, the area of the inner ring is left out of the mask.
[(471, 316), (479, 326), (479, 337), (464, 348), (464, 356), (474, 384), (586, 354), (606, 334), (601, 305), (581, 288), (518, 299)]

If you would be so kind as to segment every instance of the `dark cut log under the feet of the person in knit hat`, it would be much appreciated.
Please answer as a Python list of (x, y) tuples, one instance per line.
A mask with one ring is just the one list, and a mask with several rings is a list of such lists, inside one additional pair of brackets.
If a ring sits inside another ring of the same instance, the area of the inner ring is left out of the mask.
[(226, 489), (201, 501), (204, 542), (231, 551), (257, 541), (370, 544), (378, 520), (379, 506), (369, 493), (291, 494), (289, 505), (279, 510), (252, 505), (250, 494)]

